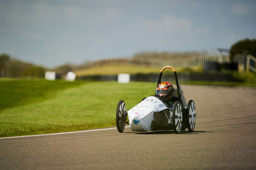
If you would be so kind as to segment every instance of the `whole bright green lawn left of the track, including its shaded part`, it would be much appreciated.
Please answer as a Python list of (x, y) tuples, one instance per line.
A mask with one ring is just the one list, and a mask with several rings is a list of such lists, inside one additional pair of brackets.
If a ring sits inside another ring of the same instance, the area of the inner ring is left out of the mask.
[(155, 83), (0, 80), (0, 137), (115, 126), (117, 102), (127, 108), (154, 95)]

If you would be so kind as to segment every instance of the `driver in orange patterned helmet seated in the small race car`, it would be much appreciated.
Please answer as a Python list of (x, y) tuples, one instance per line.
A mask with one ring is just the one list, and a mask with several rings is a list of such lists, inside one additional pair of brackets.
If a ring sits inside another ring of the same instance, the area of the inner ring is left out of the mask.
[(178, 97), (174, 96), (174, 87), (171, 82), (168, 81), (163, 81), (157, 86), (155, 95), (159, 96), (160, 99), (168, 105), (179, 100)]

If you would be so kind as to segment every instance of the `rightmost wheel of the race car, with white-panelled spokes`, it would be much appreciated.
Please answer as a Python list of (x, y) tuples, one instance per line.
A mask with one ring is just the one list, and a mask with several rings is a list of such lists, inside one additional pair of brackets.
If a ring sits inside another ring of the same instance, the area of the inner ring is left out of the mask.
[(189, 100), (187, 104), (187, 129), (192, 132), (196, 126), (197, 110), (193, 100)]

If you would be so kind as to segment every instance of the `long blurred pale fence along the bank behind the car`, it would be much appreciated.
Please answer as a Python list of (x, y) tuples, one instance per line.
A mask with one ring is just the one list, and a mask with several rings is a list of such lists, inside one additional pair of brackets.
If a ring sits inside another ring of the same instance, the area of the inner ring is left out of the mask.
[(105, 59), (94, 62), (86, 63), (84, 68), (100, 67), (104, 65), (136, 65), (152, 68), (160, 68), (166, 65), (171, 65), (175, 68), (179, 67), (194, 67), (203, 66), (208, 62), (225, 63), (229, 62), (228, 55), (214, 55), (214, 56), (201, 56), (191, 58), (179, 58), (179, 59), (146, 59), (146, 58), (116, 58)]

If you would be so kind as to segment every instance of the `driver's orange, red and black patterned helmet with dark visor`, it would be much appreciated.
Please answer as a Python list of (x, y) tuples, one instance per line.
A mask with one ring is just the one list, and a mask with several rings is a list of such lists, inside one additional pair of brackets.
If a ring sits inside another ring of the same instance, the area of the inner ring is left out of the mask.
[(173, 85), (168, 81), (161, 82), (155, 91), (155, 95), (160, 96), (164, 101), (170, 99), (174, 93)]

